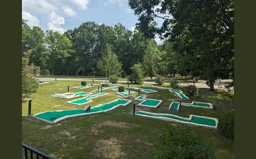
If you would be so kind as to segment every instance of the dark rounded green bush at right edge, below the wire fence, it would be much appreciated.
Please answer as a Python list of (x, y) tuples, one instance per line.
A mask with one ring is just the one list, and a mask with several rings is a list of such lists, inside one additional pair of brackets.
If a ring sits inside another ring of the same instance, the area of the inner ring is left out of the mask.
[(225, 138), (234, 141), (234, 110), (224, 113), (219, 118), (217, 131)]

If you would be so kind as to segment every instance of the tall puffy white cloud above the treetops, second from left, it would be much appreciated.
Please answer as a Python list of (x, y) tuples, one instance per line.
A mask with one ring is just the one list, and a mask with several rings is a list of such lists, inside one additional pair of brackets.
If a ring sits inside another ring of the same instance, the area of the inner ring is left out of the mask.
[(50, 14), (51, 21), (48, 22), (48, 29), (53, 31), (60, 31), (61, 33), (65, 32), (63, 25), (65, 24), (64, 17), (58, 15), (54, 11)]

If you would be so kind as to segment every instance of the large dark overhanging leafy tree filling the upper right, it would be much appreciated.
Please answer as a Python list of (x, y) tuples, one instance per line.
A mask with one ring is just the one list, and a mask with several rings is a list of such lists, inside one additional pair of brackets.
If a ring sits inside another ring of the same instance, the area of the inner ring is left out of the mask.
[[(173, 42), (184, 43), (196, 57), (194, 71), (207, 80), (210, 90), (217, 78), (226, 79), (234, 72), (234, 1), (233, 0), (129, 0), (139, 16), (139, 26), (164, 20), (161, 28), (140, 29), (159, 33)], [(185, 40), (184, 40), (185, 39)], [(176, 49), (176, 48), (174, 48)], [(183, 53), (183, 52), (177, 52)]]

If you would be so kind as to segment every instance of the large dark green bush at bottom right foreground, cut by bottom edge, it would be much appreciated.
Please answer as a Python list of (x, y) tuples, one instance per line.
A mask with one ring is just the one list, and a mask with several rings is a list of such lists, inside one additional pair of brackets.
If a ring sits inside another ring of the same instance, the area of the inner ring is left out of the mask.
[(214, 153), (211, 144), (204, 141), (198, 133), (186, 125), (170, 125), (163, 129), (160, 143), (155, 151), (157, 159), (212, 159)]

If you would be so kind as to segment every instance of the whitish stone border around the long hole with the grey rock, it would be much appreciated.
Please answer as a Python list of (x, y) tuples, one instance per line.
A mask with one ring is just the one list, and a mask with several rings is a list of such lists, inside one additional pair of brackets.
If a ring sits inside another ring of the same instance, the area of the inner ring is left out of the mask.
[[(71, 118), (71, 117), (75, 117), (75, 116), (91, 115), (91, 114), (96, 114), (96, 113), (101, 113), (101, 112), (107, 112), (107, 111), (113, 110), (114, 108), (117, 108), (117, 107), (119, 107), (119, 106), (127, 106), (128, 104), (132, 103), (132, 100), (128, 100), (128, 99), (116, 99), (116, 100), (113, 100), (112, 102), (105, 103), (105, 104), (110, 104), (110, 103), (116, 102), (117, 100), (125, 100), (125, 101), (128, 101), (128, 102), (125, 103), (125, 104), (117, 104), (116, 106), (114, 106), (114, 107), (112, 107), (112, 108), (110, 108), (110, 109), (108, 109), (108, 110), (102, 110), (102, 111), (97, 111), (97, 112), (90, 112), (90, 113), (82, 113), (82, 114), (74, 114), (74, 115), (63, 116), (63, 117), (61, 117), (61, 118), (58, 118), (58, 119), (54, 120), (53, 122), (50, 122), (50, 121), (48, 121), (48, 120), (45, 120), (45, 119), (36, 117), (36, 115), (43, 114), (43, 113), (46, 113), (46, 112), (53, 112), (53, 111), (44, 111), (44, 112), (40, 112), (40, 113), (34, 114), (34, 115), (31, 116), (31, 117), (52, 124), (52, 123), (59, 122), (60, 120), (64, 120), (64, 119)], [(101, 105), (104, 105), (104, 104), (99, 104), (99, 105), (97, 105), (97, 106), (95, 106), (95, 107), (99, 107), (99, 106), (101, 106)], [(95, 108), (95, 107), (93, 107), (93, 108)], [(83, 109), (83, 108), (82, 108), (82, 109)], [(82, 109), (72, 109), (72, 110), (82, 110)], [(68, 111), (68, 110), (60, 110), (60, 111)]]

